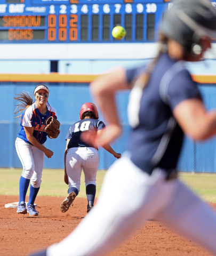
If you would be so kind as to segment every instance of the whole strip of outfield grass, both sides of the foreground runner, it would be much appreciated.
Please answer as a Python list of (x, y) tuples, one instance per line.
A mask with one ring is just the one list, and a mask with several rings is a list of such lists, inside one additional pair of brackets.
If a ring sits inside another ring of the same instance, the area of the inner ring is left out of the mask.
[[(0, 169), (0, 195), (19, 195), (19, 179), (21, 169)], [(97, 173), (98, 197), (106, 171)], [(205, 201), (216, 203), (216, 174), (180, 173), (180, 180), (198, 193)], [(68, 186), (63, 181), (64, 171), (61, 169), (44, 169), (40, 196), (66, 196)], [(28, 195), (28, 193), (27, 193)], [(82, 172), (79, 197), (85, 197), (84, 174)]]

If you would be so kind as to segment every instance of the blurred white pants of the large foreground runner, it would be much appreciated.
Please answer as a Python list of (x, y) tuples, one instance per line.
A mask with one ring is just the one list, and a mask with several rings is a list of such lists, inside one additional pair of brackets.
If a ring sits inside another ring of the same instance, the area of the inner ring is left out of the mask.
[(153, 218), (216, 255), (216, 214), (211, 207), (179, 180), (165, 180), (163, 170), (149, 176), (125, 157), (110, 167), (95, 207), (46, 255), (104, 255)]

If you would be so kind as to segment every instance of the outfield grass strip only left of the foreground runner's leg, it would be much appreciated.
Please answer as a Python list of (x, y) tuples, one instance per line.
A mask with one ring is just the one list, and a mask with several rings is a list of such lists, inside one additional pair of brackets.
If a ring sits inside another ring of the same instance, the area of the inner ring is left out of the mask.
[[(19, 195), (19, 180), (21, 169), (0, 169), (0, 195)], [(98, 197), (105, 171), (97, 173), (97, 193)], [(44, 169), (42, 175), (42, 185), (39, 191), (40, 196), (66, 196), (68, 186), (63, 181), (64, 170)], [(28, 193), (27, 193), (28, 195)], [(85, 197), (84, 174), (81, 175), (81, 187), (79, 197)]]

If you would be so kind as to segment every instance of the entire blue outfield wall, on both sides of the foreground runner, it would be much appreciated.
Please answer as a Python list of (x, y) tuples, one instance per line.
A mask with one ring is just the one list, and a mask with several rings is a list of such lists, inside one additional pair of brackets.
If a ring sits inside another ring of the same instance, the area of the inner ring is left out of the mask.
[[(63, 155), (65, 152), (65, 137), (69, 127), (79, 120), (79, 110), (83, 103), (91, 102), (89, 84), (86, 83), (46, 83), (50, 88), (49, 103), (57, 109), (58, 119), (61, 123), (60, 135), (57, 139), (47, 139), (45, 145), (54, 152), (52, 158), (45, 157), (44, 168), (63, 169)], [(28, 91), (33, 94), (37, 83), (0, 83), (0, 167), (22, 167), (15, 150), (15, 139), (20, 127), (20, 119), (14, 119), (16, 102), (15, 94)], [(199, 85), (207, 109), (216, 108), (216, 85)], [(118, 114), (123, 126), (121, 137), (111, 146), (123, 153), (127, 149), (131, 128), (127, 120), (127, 102), (129, 91), (119, 92), (116, 97)], [(111, 115), (111, 113), (110, 113)], [(104, 121), (99, 109), (99, 119)], [(194, 142), (185, 138), (178, 163), (178, 170), (184, 172), (216, 172), (215, 138), (204, 142)], [(103, 148), (99, 148), (99, 169), (108, 169), (115, 161), (115, 157)]]

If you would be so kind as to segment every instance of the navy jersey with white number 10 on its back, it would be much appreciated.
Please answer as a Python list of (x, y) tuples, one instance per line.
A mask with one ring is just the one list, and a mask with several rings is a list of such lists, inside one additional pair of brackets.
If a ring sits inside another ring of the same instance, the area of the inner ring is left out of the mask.
[[(66, 135), (66, 140), (70, 140), (68, 143), (68, 149), (69, 148), (76, 148), (76, 147), (93, 147), (95, 146), (91, 145), (91, 143), (87, 143), (81, 140), (81, 133), (84, 131), (89, 131), (89, 132), (97, 132), (99, 130), (104, 129), (106, 126), (105, 124), (97, 119), (90, 119), (90, 118), (85, 118), (81, 121), (76, 122), (73, 124), (67, 135)], [(98, 149), (98, 148), (97, 148)]]

